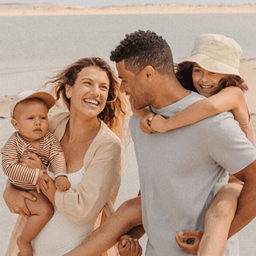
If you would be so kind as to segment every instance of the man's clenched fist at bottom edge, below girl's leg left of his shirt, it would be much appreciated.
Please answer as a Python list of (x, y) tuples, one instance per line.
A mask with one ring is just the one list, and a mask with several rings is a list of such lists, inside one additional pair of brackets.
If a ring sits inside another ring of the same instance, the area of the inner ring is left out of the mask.
[(142, 247), (137, 239), (131, 238), (129, 235), (123, 235), (118, 242), (118, 250), (120, 256), (141, 256)]

